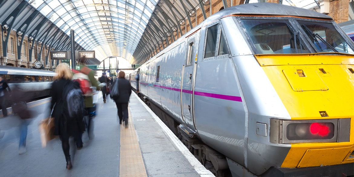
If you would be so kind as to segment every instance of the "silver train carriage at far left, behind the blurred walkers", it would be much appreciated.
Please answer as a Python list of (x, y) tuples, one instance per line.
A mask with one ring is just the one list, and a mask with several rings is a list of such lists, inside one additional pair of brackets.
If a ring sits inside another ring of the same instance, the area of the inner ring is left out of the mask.
[(0, 66), (0, 76), (6, 80), (10, 89), (15, 84), (19, 85), (23, 91), (28, 92), (30, 99), (49, 96), (55, 75), (55, 72), (46, 70)]

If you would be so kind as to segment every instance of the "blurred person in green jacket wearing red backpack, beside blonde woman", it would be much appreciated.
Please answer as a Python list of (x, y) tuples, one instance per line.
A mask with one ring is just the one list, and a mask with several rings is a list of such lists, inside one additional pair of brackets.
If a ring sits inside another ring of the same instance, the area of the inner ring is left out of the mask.
[[(91, 82), (91, 85), (96, 87), (96, 90), (99, 91), (100, 87), (97, 83), (97, 80), (95, 79), (95, 71), (88, 68), (86, 63), (86, 58), (85, 56), (82, 57), (79, 61), (79, 72), (86, 74), (89, 77), (89, 80)], [(104, 89), (102, 89), (104, 90)], [(89, 136), (89, 139), (93, 139), (95, 135), (93, 134), (93, 117), (96, 115), (96, 104), (93, 104), (93, 98), (92, 96), (85, 96), (84, 98), (85, 101), (85, 124), (87, 126), (87, 135)]]

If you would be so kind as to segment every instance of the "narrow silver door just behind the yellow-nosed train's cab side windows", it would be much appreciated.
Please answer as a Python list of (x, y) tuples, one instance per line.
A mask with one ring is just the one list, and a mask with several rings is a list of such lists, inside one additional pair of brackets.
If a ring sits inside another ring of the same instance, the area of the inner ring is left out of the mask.
[(188, 38), (187, 42), (187, 52), (185, 57), (185, 63), (182, 66), (182, 85), (181, 85), (181, 108), (182, 108), (182, 119), (184, 123), (192, 130), (195, 130), (194, 119), (193, 119), (193, 80), (196, 58), (198, 51), (198, 36), (196, 33)]

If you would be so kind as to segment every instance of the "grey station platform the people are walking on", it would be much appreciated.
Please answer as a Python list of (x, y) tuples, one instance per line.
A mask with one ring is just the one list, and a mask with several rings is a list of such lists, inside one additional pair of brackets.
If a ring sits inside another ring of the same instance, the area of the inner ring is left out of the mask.
[[(95, 118), (95, 138), (82, 136), (84, 147), (70, 142), (73, 169), (65, 169), (59, 138), (41, 147), (38, 123), (48, 114), (49, 99), (29, 103), (38, 116), (28, 127), (27, 153), (18, 154), (19, 118), (0, 118), (0, 176), (120, 176), (120, 177), (212, 177), (165, 124), (133, 93), (129, 125), (117, 121), (116, 105), (102, 96)], [(11, 110), (8, 110), (11, 112)], [(71, 140), (73, 141), (73, 140)]]

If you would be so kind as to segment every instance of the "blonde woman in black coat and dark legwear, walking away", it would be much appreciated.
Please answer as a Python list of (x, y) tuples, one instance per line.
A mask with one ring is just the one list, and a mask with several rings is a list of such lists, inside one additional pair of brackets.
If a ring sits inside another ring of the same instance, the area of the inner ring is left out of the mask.
[[(78, 149), (81, 149), (81, 132), (85, 131), (85, 125), (82, 122), (82, 118), (68, 120), (62, 114), (64, 103), (62, 95), (64, 87), (70, 84), (70, 82), (73, 82), (71, 80), (73, 73), (69, 69), (69, 65), (67, 63), (60, 63), (57, 66), (55, 72), (57, 73), (57, 75), (55, 76), (55, 81), (52, 84), (50, 92), (50, 95), (52, 97), (50, 110), (53, 110), (52, 116), (54, 117), (55, 123), (54, 135), (59, 135), (62, 141), (63, 152), (65, 155), (65, 160), (67, 162), (66, 168), (70, 170), (72, 168), (72, 162), (69, 153), (69, 137), (74, 136)], [(74, 83), (78, 85), (77, 82)]]

